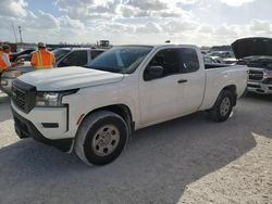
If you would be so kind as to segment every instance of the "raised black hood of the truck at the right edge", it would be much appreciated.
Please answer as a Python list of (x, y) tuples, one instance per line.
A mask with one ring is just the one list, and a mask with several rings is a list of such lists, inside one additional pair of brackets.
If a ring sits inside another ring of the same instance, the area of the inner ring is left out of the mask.
[(272, 56), (272, 38), (243, 38), (232, 43), (236, 59), (262, 55)]

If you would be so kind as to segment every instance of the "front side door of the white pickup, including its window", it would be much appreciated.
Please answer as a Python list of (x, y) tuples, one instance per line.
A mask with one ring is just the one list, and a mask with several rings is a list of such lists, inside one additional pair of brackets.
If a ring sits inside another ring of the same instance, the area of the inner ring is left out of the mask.
[[(162, 66), (162, 76), (145, 79), (148, 78), (149, 66)], [(180, 73), (178, 48), (158, 51), (139, 77), (141, 125), (166, 120), (183, 113), (185, 81)]]

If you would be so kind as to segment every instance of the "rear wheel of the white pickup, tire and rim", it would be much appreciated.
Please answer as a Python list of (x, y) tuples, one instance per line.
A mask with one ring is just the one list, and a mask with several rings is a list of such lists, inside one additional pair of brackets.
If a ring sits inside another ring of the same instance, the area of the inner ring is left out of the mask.
[(234, 105), (234, 94), (228, 90), (223, 90), (213, 107), (209, 111), (210, 119), (214, 122), (225, 122), (232, 111)]

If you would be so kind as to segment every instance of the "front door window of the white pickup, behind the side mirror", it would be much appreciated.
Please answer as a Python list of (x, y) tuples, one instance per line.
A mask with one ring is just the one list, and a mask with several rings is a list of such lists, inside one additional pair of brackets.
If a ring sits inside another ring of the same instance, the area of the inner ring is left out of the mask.
[(165, 49), (159, 51), (148, 66), (162, 66), (163, 76), (178, 74), (178, 49)]

